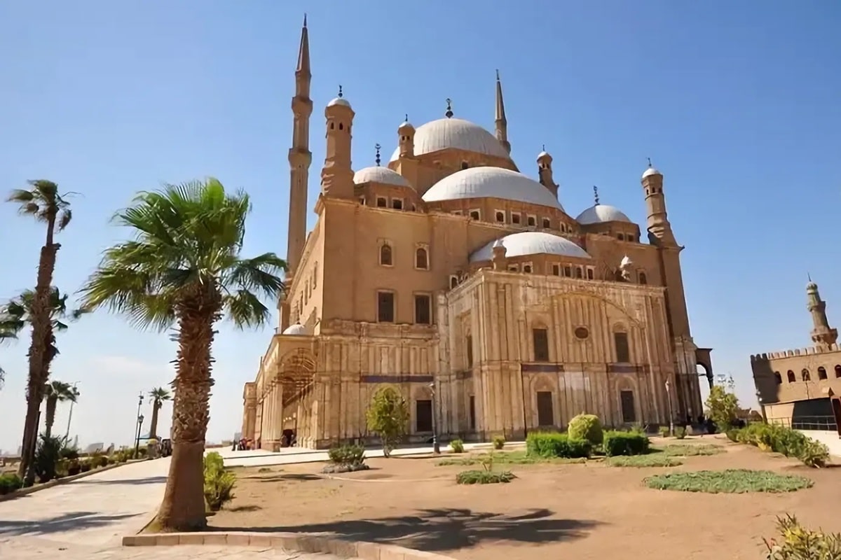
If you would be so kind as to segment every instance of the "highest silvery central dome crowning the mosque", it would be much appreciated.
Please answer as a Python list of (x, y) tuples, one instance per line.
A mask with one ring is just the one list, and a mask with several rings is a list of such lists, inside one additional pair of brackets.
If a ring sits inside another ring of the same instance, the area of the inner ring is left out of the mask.
[[(415, 130), (415, 155), (431, 154), (447, 148), (510, 160), (510, 155), (493, 134), (462, 118), (439, 118)], [(397, 148), (391, 154), (391, 161), (397, 161), (399, 157), (400, 149)]]

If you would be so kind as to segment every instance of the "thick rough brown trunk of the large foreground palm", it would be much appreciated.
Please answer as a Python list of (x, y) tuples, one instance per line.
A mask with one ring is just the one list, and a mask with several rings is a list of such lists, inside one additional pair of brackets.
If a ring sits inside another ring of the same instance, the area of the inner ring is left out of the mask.
[[(198, 299), (198, 298), (197, 298)], [(215, 306), (193, 301), (178, 310), (177, 373), (172, 384), (172, 459), (161, 509), (161, 531), (197, 531), (207, 526), (204, 504), (204, 437), (209, 420), (210, 348)]]

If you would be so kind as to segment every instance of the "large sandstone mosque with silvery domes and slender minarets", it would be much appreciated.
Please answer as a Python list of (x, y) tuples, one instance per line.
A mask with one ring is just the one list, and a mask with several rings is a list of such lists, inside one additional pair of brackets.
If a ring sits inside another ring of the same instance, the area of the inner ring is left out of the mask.
[(293, 432), (304, 447), (373, 440), (365, 413), (382, 385), (409, 404), (410, 442), (522, 438), (582, 411), (614, 427), (703, 413), (696, 372), (712, 378), (710, 349), (690, 334), (658, 170), (639, 191), (646, 238), (597, 197), (572, 217), (551, 155), (537, 154), (537, 180), (511, 160), (497, 76), (494, 134), (447, 107), (400, 124), (387, 165), (354, 171), (340, 90), (308, 234), (310, 81), (304, 20), (287, 290), (245, 386), (243, 437), (275, 450)]

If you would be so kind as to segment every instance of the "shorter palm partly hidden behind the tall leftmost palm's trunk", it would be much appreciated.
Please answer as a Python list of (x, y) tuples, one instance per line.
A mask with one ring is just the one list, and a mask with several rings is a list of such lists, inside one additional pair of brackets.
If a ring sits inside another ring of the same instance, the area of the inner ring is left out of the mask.
[[(35, 314), (34, 314), (34, 306), (36, 300), (36, 293), (34, 290), (24, 290), (21, 294), (13, 298), (12, 300), (8, 301), (6, 305), (0, 307), (0, 341), (2, 340), (11, 340), (17, 338), (19, 332), (24, 330), (24, 327), (32, 327), (34, 330), (34, 325), (36, 322)], [(44, 352), (42, 353), (42, 359), (40, 360), (40, 370), (37, 375), (38, 382), (40, 386), (37, 390), (32, 389), (30, 386), (27, 390), (27, 408), (29, 409), (29, 395), (39, 395), (38, 398), (43, 400), (44, 399), (44, 388), (47, 383), (47, 380), (50, 378), (50, 365), (52, 364), (53, 359), (56, 359), (58, 355), (58, 348), (56, 347), (56, 332), (62, 332), (67, 330), (67, 323), (65, 320), (67, 318), (70, 319), (77, 319), (82, 316), (84, 313), (83, 310), (77, 311), (69, 311), (67, 309), (67, 295), (61, 294), (56, 286), (50, 286), (50, 289), (47, 290), (47, 327), (45, 329), (45, 344), (44, 344)], [(30, 356), (31, 356), (31, 347), (30, 347)], [(30, 361), (31, 364), (31, 361)], [(29, 385), (31, 385), (32, 376), (29, 376)], [(35, 427), (34, 427), (34, 434), (35, 436), (38, 435), (38, 420), (40, 417), (40, 401), (37, 403), (38, 406), (35, 408)], [(27, 417), (29, 417), (29, 410), (27, 410)], [(27, 438), (27, 428), (24, 427), (24, 445), (29, 443), (29, 445), (34, 445), (34, 437), (32, 439)], [(21, 451), (21, 462), (24, 461), (24, 457), (27, 456), (26, 447), (23, 448)], [(31, 458), (32, 455), (29, 455), (29, 461), (31, 465)], [(22, 472), (23, 475), (26, 477), (34, 477), (34, 472), (30, 472), (29, 465), (27, 468), (21, 468), (19, 472)]]

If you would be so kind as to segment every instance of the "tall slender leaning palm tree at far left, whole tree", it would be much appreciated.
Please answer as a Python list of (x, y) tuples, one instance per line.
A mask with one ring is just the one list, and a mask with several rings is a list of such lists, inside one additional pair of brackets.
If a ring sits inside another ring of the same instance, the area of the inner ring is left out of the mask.
[(38, 416), (41, 406), (41, 390), (46, 378), (44, 363), (50, 346), (50, 285), (56, 270), (56, 254), (61, 247), (56, 243), (56, 233), (61, 232), (70, 223), (72, 214), (70, 202), (58, 191), (58, 185), (43, 179), (29, 181), (29, 190), (15, 189), (8, 201), (17, 204), (19, 212), (34, 217), (46, 224), (46, 239), (41, 247), (38, 260), (38, 276), (35, 283), (32, 305), (32, 343), (29, 345), (29, 379), (26, 389), (26, 421), (24, 422), (24, 441), (20, 459), (19, 475), (34, 480), (32, 458), (35, 452), (34, 442), (38, 436)]

